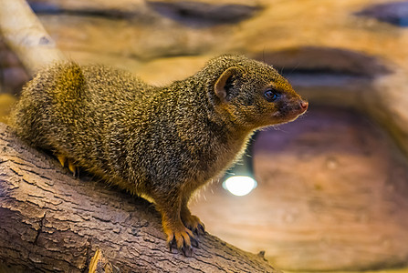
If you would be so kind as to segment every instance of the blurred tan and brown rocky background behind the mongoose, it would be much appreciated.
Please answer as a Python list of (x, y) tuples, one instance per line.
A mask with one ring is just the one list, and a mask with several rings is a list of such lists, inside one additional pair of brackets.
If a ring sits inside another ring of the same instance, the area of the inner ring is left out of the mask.
[[(70, 59), (153, 85), (224, 53), (277, 68), (308, 113), (256, 135), (238, 165), (256, 187), (215, 179), (193, 212), (285, 271), (408, 272), (408, 1), (27, 2)], [(0, 122), (27, 80), (0, 37)]]

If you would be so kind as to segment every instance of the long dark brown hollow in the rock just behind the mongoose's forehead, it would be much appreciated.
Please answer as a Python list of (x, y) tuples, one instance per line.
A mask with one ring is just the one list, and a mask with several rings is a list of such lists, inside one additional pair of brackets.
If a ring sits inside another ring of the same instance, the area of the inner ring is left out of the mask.
[(297, 78), (322, 83), (342, 83), (370, 81), (391, 73), (391, 69), (382, 64), (379, 58), (342, 48), (294, 47), (277, 52), (263, 52), (254, 58), (274, 66), (289, 80)]

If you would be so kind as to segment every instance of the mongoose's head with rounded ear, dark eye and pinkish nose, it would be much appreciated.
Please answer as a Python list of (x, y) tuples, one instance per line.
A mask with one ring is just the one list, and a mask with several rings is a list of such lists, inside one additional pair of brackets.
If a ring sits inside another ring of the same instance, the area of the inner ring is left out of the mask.
[(215, 109), (237, 126), (255, 129), (286, 123), (308, 109), (308, 102), (272, 66), (235, 55), (214, 58), (208, 66), (218, 68)]

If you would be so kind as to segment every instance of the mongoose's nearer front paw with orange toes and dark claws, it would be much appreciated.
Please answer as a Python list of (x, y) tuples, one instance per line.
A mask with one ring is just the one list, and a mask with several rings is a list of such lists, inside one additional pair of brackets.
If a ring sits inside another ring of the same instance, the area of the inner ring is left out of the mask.
[(181, 230), (167, 229), (164, 230), (167, 235), (167, 244), (169, 245), (170, 251), (173, 248), (181, 250), (184, 256), (191, 256), (193, 254), (193, 248), (198, 248), (198, 241), (194, 238), (193, 232), (183, 227)]

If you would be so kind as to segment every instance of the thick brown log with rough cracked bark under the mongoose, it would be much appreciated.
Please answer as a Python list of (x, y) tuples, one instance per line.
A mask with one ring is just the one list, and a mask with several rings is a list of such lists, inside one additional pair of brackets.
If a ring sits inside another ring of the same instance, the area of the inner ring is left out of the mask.
[(0, 124), (0, 263), (84, 272), (97, 249), (120, 272), (278, 272), (261, 256), (209, 234), (194, 255), (171, 253), (147, 201), (76, 179)]

